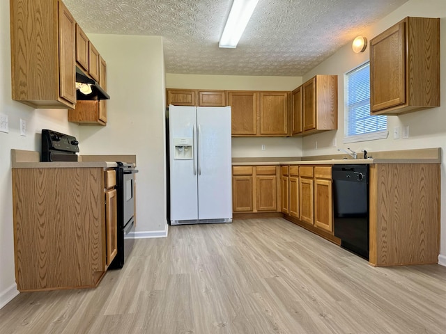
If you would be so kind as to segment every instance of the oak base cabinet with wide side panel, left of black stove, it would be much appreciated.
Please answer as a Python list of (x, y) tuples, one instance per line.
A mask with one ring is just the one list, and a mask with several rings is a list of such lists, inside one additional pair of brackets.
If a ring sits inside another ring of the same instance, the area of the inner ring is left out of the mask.
[(17, 289), (97, 286), (116, 255), (114, 170), (12, 172)]

